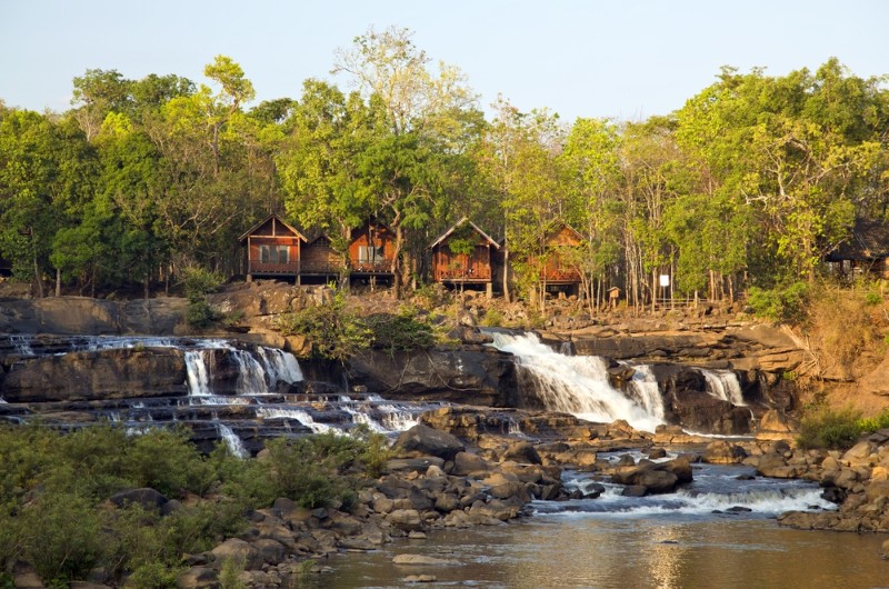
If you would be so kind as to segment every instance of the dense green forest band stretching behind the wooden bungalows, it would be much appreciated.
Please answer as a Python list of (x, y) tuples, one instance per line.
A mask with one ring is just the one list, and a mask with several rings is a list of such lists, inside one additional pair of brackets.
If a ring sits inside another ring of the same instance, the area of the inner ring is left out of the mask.
[[(811, 280), (857, 218), (889, 204), (889, 89), (831, 59), (770, 77), (726, 67), (678, 111), (561, 121), (500, 98), (490, 114), (461, 71), (409, 30), (369, 30), (302, 96), (260, 102), (219, 56), (207, 83), (91, 69), (63, 113), (0, 101), (0, 257), (36, 294), (143, 284), (186, 269), (242, 271), (238, 237), (269, 212), (342, 250), (369, 218), (394, 232), (396, 292), (424, 248), (468, 216), (513, 261), (540, 259), (565, 221), (585, 238), (586, 292), (729, 298)], [(606, 90), (603, 90), (606, 91)], [(516, 263), (507, 298), (539, 271)]]

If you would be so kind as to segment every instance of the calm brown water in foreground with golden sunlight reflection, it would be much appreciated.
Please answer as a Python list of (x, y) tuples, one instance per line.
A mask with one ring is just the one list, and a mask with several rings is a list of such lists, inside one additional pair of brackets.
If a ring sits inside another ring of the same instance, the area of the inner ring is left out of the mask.
[[(665, 521), (539, 516), (497, 528), (432, 532), (368, 555), (333, 559), (318, 587), (796, 588), (889, 586), (882, 536), (799, 531), (771, 520)], [(396, 567), (398, 553), (453, 558), (457, 567)]]

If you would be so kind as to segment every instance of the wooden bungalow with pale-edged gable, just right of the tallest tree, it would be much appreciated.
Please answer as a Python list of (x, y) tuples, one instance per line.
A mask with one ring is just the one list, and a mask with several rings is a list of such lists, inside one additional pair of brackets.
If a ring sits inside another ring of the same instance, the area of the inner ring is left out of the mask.
[[(463, 248), (457, 247), (467, 243), (471, 252), (460, 251)], [(461, 287), (483, 284), (490, 297), (493, 292), (492, 251), (499, 249), (497, 241), (463, 217), (429, 246), (432, 252), (432, 280)]]

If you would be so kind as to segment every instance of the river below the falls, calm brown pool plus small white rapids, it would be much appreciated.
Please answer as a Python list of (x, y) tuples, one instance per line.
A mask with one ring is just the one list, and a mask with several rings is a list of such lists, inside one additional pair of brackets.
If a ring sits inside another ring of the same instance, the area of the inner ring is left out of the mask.
[[(665, 459), (670, 459), (675, 455)], [(638, 458), (638, 457), (637, 457)], [(617, 456), (610, 459), (617, 460)], [(569, 471), (569, 487), (605, 487), (596, 499), (535, 502), (509, 525), (431, 531), (363, 555), (331, 557), (316, 587), (481, 588), (872, 588), (889, 587), (881, 535), (780, 528), (788, 509), (832, 509), (817, 486), (753, 478), (746, 467), (695, 466), (679, 493), (626, 498), (620, 487)], [(740, 478), (739, 478), (740, 477)], [(396, 566), (396, 555), (455, 565)]]

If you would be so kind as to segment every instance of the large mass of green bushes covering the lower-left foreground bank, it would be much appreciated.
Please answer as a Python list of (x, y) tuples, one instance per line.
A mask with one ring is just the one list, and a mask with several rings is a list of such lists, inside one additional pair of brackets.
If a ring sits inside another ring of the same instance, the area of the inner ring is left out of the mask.
[[(273, 440), (267, 460), (236, 458), (222, 445), (201, 457), (184, 430), (130, 437), (111, 426), (68, 435), (0, 427), (0, 587), (18, 560), (34, 566), (47, 586), (101, 567), (116, 585), (128, 578), (133, 587), (173, 587), (182, 555), (242, 532), (244, 512), (281, 496), (351, 509), (364, 477), (379, 476), (390, 457), (386, 436), (366, 427)], [(106, 506), (111, 493), (143, 486), (171, 497), (212, 490), (218, 498), (162, 517), (138, 505)]]

